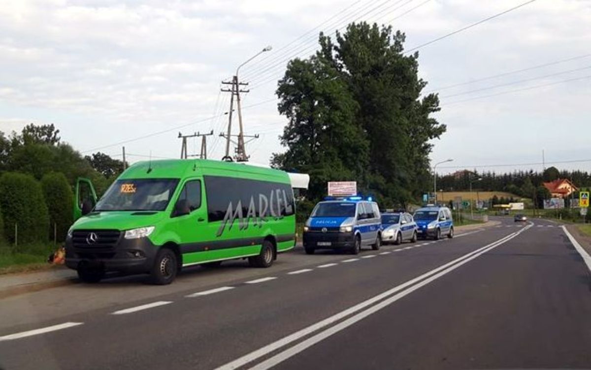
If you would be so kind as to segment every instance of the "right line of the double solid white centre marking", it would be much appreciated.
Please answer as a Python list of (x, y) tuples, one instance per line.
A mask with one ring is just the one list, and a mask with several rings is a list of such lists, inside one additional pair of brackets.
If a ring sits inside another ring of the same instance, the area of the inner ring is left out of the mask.
[(402, 290), (402, 292), (397, 293), (394, 296), (391, 296), (390, 298), (385, 299), (382, 302), (379, 302), (378, 304), (369, 307), (368, 309), (365, 309), (359, 313), (356, 313), (356, 315), (351, 316), (350, 318), (346, 319), (345, 321), (340, 322), (337, 325), (332, 326), (328, 329), (325, 329), (324, 331), (317, 333), (316, 335), (311, 336), (310, 338), (308, 338), (300, 343), (297, 343), (297, 345), (294, 345), (293, 347), (288, 348), (285, 351), (282, 351), (279, 354), (272, 356), (271, 358), (268, 358), (267, 360), (261, 362), (258, 365), (252, 366), (252, 368), (250, 368), (250, 370), (267, 370), (277, 364), (280, 364), (281, 362), (285, 361), (286, 359), (291, 358), (294, 355), (297, 355), (301, 351), (304, 351), (304, 349), (307, 349), (307, 348), (313, 346), (314, 344), (323, 341), (324, 339), (328, 338), (329, 336), (331, 336), (337, 332), (340, 332), (343, 329), (348, 328), (349, 326), (353, 325), (354, 323), (361, 321), (362, 319), (366, 318), (369, 315), (372, 315), (375, 312), (378, 312), (378, 310), (381, 310), (382, 308), (385, 308), (385, 307), (391, 305), (392, 303), (396, 302), (397, 300), (403, 298), (404, 296), (409, 295), (410, 293), (427, 285), (428, 283), (439, 279), (439, 277), (447, 275), (448, 273), (452, 272), (453, 270), (457, 269), (458, 267), (465, 265), (465, 263), (468, 263), (473, 259), (478, 258), (480, 255), (483, 255), (484, 253), (488, 252), (489, 250), (492, 250), (492, 249), (508, 242), (509, 240), (518, 236), (519, 233), (520, 232), (511, 234), (511, 237), (504, 238), (504, 240), (502, 240), (502, 242), (492, 243), (492, 245), (489, 245), (488, 247), (481, 249), (480, 252), (476, 253), (475, 255), (467, 257), (466, 259), (460, 261), (459, 263), (456, 263), (455, 265), (452, 265), (452, 266), (448, 267), (447, 269), (444, 269), (443, 271), (436, 273), (436, 275), (430, 276), (427, 279), (423, 280), (422, 282), (417, 283), (408, 289)]

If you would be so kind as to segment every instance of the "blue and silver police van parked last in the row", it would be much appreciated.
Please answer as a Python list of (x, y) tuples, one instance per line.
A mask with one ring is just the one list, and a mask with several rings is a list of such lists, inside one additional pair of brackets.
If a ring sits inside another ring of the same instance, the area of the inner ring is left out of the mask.
[(417, 223), (419, 237), (432, 237), (435, 240), (440, 239), (442, 235), (453, 237), (453, 217), (449, 208), (424, 207), (418, 209), (413, 217)]

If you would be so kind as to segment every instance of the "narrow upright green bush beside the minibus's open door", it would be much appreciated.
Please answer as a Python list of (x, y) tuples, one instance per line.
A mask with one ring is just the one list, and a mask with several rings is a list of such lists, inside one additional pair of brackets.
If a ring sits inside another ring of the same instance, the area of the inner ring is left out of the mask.
[(72, 225), (73, 193), (66, 176), (61, 172), (50, 172), (41, 179), (41, 188), (49, 212), (49, 235), (53, 239), (53, 227), (56, 225), (57, 240), (66, 240), (66, 234)]

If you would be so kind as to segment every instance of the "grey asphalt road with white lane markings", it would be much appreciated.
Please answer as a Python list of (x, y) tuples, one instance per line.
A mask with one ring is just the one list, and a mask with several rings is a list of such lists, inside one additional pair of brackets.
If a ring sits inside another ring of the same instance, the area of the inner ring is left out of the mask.
[(0, 368), (591, 368), (589, 270), (541, 220), (143, 279), (0, 300)]

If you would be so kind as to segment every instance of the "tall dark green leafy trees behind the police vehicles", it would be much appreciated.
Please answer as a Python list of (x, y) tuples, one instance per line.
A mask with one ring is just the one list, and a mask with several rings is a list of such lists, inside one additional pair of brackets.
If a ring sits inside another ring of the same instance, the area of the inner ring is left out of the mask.
[(430, 140), (446, 127), (431, 117), (437, 95), (421, 97), (427, 82), (418, 54), (403, 54), (404, 39), (390, 27), (350, 24), (334, 43), (321, 33), (315, 55), (289, 62), (277, 89), (287, 150), (272, 164), (310, 173), (313, 199), (330, 180), (356, 180), (385, 205), (427, 188)]

